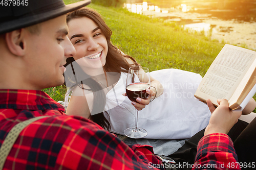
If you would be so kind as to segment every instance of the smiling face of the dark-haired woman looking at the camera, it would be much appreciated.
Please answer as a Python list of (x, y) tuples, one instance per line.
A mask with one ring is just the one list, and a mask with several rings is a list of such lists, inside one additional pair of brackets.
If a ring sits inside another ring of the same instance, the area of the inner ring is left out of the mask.
[(88, 17), (72, 19), (68, 27), (68, 37), (76, 49), (76, 62), (88, 73), (102, 70), (108, 54), (108, 43), (100, 28)]

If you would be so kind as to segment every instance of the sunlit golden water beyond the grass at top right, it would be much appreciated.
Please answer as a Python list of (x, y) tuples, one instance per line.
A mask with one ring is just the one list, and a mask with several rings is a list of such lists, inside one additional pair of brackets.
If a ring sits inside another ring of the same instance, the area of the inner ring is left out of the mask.
[[(247, 46), (256, 50), (256, 0), (229, 3), (228, 0), (143, 2), (127, 0), (131, 12), (177, 22), (184, 28), (204, 32), (220, 42)], [(199, 2), (199, 3), (198, 3)]]

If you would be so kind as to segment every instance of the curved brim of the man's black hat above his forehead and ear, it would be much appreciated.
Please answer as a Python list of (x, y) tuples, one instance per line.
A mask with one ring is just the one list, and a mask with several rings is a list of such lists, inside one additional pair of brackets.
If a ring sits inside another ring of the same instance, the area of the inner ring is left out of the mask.
[(51, 10), (45, 13), (30, 15), (23, 18), (17, 18), (10, 21), (6, 21), (0, 26), (0, 34), (11, 32), (17, 29), (29, 27), (36, 23), (44, 22), (49, 19), (56, 18), (61, 15), (65, 15), (68, 12), (77, 10), (91, 3), (91, 0), (84, 0), (77, 3), (66, 5), (65, 7)]

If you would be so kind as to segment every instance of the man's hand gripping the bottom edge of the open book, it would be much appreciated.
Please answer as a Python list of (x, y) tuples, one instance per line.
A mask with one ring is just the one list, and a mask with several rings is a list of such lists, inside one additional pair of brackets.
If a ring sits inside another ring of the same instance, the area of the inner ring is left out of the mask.
[(231, 111), (228, 107), (226, 99), (218, 100), (219, 106), (215, 106), (207, 100), (207, 105), (211, 111), (209, 125), (206, 127), (204, 135), (210, 133), (225, 133), (227, 134), (234, 124), (238, 122), (241, 116), (241, 111)]

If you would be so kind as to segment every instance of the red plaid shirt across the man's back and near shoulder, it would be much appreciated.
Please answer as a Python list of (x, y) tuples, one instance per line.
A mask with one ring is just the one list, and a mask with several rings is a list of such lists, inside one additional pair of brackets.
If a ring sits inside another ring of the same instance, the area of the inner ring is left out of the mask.
[(63, 111), (45, 92), (0, 90), (0, 147), (14, 125), (50, 115), (19, 134), (4, 169), (152, 169), (149, 162), (161, 164), (152, 147), (129, 147), (89, 119)]

